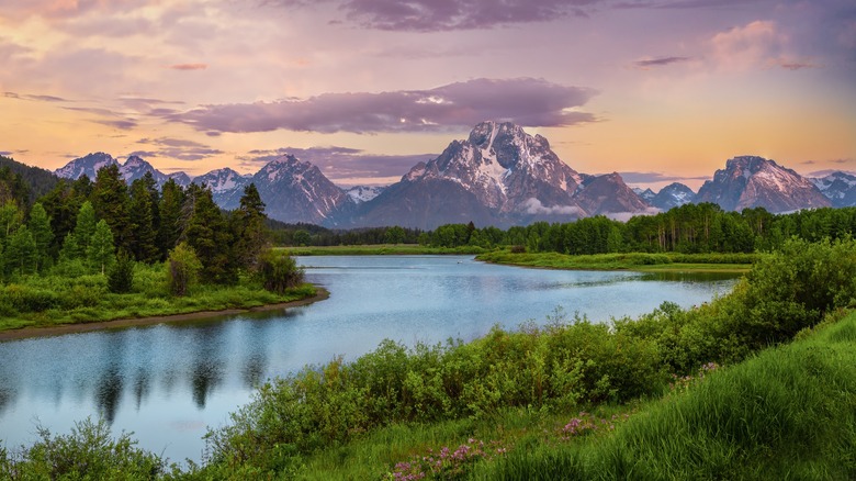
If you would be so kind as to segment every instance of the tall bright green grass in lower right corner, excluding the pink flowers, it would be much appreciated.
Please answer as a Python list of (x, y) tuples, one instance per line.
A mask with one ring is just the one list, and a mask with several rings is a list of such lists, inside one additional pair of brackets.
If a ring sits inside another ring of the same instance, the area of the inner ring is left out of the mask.
[(608, 437), (538, 445), (473, 479), (856, 479), (856, 313), (651, 403)]

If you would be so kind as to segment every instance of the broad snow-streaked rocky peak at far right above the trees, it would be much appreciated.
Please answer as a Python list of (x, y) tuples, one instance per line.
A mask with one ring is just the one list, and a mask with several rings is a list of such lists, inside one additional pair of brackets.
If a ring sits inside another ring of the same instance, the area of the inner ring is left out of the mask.
[(696, 202), (713, 202), (727, 211), (764, 208), (769, 212), (830, 206), (830, 200), (808, 179), (763, 157), (729, 159), (713, 180), (701, 186)]

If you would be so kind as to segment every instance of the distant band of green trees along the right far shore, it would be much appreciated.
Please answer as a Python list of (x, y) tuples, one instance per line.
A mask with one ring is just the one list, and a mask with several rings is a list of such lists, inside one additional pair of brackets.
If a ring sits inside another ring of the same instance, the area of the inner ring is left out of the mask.
[(519, 250), (571, 255), (609, 253), (753, 253), (773, 250), (785, 240), (838, 239), (856, 232), (856, 208), (814, 209), (771, 214), (763, 208), (727, 212), (713, 203), (686, 204), (627, 222), (602, 215), (570, 223), (536, 222), (508, 230), (448, 224), (421, 233), (433, 247), (514, 246)]

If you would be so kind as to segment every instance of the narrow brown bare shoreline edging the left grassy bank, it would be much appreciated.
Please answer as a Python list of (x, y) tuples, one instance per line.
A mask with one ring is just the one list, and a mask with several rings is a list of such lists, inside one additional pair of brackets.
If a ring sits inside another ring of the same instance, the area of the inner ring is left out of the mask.
[(115, 329), (125, 327), (138, 327), (153, 324), (181, 323), (191, 321), (201, 321), (211, 317), (243, 314), (247, 312), (270, 312), (280, 311), (289, 307), (299, 307), (315, 302), (324, 301), (330, 297), (329, 291), (324, 288), (315, 287), (314, 294), (295, 301), (279, 302), (273, 304), (256, 305), (240, 309), (223, 309), (216, 311), (196, 311), (181, 314), (153, 315), (146, 317), (116, 318), (111, 321), (99, 321), (91, 323), (59, 324), (53, 326), (33, 326), (21, 327), (16, 329), (0, 331), (0, 342), (12, 339), (25, 339), (31, 337), (60, 336), (64, 334), (87, 333), (91, 331)]

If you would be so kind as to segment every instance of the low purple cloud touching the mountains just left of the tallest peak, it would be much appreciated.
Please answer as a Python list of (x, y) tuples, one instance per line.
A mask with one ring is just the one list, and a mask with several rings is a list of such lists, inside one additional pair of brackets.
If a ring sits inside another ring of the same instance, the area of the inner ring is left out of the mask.
[(378, 179), (384, 182), (391, 177), (401, 177), (418, 164), (437, 157), (437, 154), (373, 155), (349, 147), (283, 147), (273, 150), (250, 150), (238, 157), (241, 167), (258, 169), (283, 155), (293, 155), (303, 161), (318, 166), (334, 182), (353, 183), (350, 179)]

